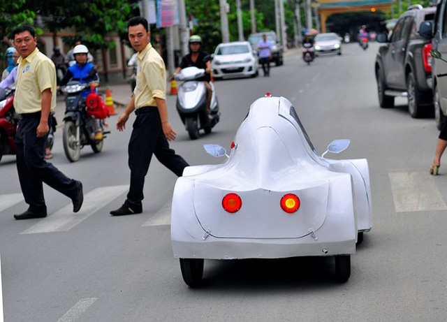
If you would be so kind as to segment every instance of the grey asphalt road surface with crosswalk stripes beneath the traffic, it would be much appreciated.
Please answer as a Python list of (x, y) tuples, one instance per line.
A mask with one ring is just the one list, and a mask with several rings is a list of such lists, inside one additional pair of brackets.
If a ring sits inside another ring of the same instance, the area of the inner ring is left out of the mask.
[[(265, 92), (288, 98), (321, 154), (336, 138), (351, 146), (335, 158), (367, 158), (373, 224), (351, 256), (351, 278), (334, 279), (330, 258), (205, 261), (203, 288), (184, 284), (170, 248), (170, 202), (176, 177), (154, 158), (143, 213), (110, 217), (129, 184), (124, 133), (114, 129), (103, 152), (64, 156), (56, 132), (52, 163), (82, 180), (85, 205), (45, 187), (49, 216), (15, 221), (26, 209), (15, 158), (0, 163), (0, 255), (4, 321), (444, 321), (447, 316), (445, 227), (447, 166), (428, 170), (439, 132), (412, 119), (406, 101), (379, 108), (374, 79), (378, 44), (344, 45), (342, 56), (305, 65), (299, 52), (270, 78), (216, 82), (221, 122), (191, 141), (168, 97), (177, 140), (192, 165), (220, 163), (205, 143), (230, 147), (249, 105)], [(262, 75), (262, 73), (261, 73)], [(444, 163), (442, 163), (444, 164)]]

